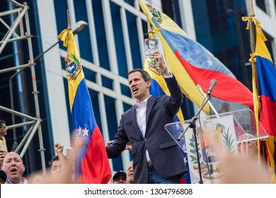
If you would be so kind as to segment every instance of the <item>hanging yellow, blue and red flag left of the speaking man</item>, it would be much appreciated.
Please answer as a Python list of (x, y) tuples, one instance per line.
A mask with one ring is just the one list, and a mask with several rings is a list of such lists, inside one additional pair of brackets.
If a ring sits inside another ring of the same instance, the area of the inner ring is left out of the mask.
[(68, 29), (63, 30), (59, 38), (64, 47), (68, 47), (65, 61), (74, 134), (85, 139), (85, 145), (80, 149), (79, 160), (75, 164), (76, 179), (86, 184), (108, 183), (111, 178), (108, 156), (93, 113), (74, 35), (71, 29)]

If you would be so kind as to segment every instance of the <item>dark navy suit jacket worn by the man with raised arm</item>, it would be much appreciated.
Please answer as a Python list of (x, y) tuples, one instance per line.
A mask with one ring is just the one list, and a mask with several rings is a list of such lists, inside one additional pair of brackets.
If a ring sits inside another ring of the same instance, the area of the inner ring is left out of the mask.
[(146, 106), (146, 133), (142, 132), (136, 121), (136, 106), (122, 114), (114, 143), (106, 146), (108, 158), (117, 158), (125, 150), (128, 141), (132, 144), (134, 182), (148, 182), (146, 149), (155, 170), (162, 177), (171, 177), (187, 173), (183, 156), (178, 144), (164, 128), (173, 122), (173, 117), (180, 109), (183, 95), (176, 78), (165, 78), (171, 96), (150, 97)]

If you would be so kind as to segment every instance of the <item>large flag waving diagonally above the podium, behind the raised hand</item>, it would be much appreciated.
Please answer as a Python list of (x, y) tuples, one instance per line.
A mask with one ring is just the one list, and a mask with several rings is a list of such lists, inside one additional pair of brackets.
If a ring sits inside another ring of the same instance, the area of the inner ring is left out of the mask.
[[(200, 107), (203, 96), (197, 90), (200, 84), (207, 92), (210, 81), (217, 80), (217, 86), (212, 91), (216, 98), (253, 108), (251, 91), (243, 86), (229, 69), (219, 62), (205, 47), (191, 40), (171, 18), (155, 8), (138, 0), (142, 11), (149, 17), (151, 25), (156, 30), (163, 45), (168, 68), (176, 76), (183, 93)], [(209, 107), (205, 107), (209, 112)]]

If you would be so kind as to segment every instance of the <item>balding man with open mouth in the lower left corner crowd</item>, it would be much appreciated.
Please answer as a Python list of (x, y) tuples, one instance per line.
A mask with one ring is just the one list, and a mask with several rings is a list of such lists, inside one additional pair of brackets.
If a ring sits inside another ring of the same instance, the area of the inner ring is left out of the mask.
[(25, 165), (21, 156), (15, 152), (9, 152), (3, 161), (1, 170), (4, 170), (7, 175), (6, 183), (8, 184), (26, 184), (28, 181), (23, 177)]

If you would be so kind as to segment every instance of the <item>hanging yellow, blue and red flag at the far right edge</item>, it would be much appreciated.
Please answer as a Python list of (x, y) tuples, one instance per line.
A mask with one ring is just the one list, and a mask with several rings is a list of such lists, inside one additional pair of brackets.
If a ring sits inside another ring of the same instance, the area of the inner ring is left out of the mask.
[[(243, 21), (252, 20), (255, 23), (255, 52), (249, 60), (253, 66), (253, 98), (256, 120), (270, 135), (265, 141), (268, 162), (275, 177), (275, 141), (276, 141), (276, 71), (270, 52), (265, 45), (267, 40), (260, 28), (260, 22), (255, 17), (243, 17)], [(249, 29), (249, 26), (246, 28)]]

